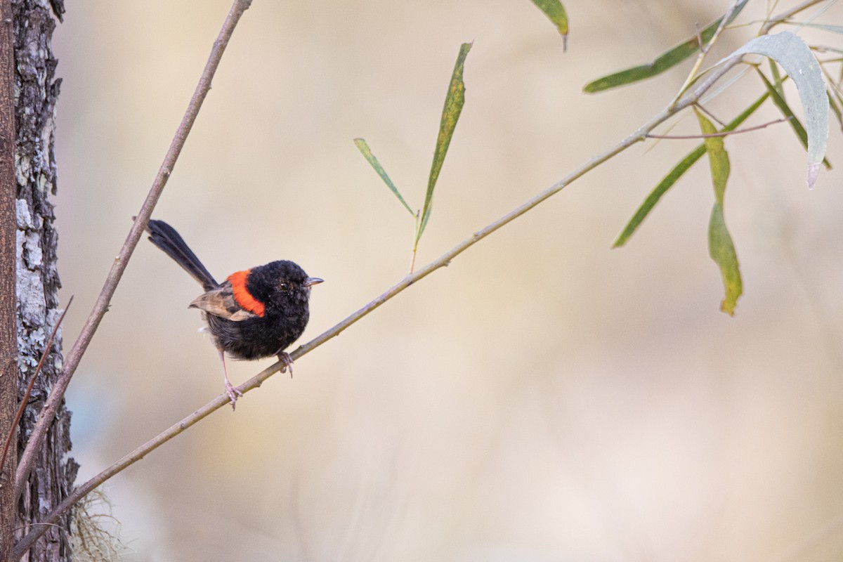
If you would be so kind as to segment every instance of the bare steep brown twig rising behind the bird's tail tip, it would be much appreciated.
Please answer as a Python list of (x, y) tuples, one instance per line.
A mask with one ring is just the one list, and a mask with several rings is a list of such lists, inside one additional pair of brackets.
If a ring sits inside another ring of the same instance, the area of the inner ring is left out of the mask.
[(50, 428), (56, 412), (56, 407), (61, 404), (62, 398), (64, 397), (64, 391), (67, 389), (67, 384), (70, 383), (73, 372), (76, 371), (79, 361), (81, 361), (85, 350), (88, 348), (91, 339), (94, 337), (94, 333), (99, 326), (99, 322), (108, 311), (111, 297), (114, 295), (115, 289), (117, 288), (117, 283), (120, 282), (123, 271), (126, 270), (126, 265), (128, 264), (129, 258), (132, 256), (132, 252), (137, 245), (137, 241), (140, 240), (143, 229), (146, 227), (149, 220), (149, 216), (152, 214), (153, 208), (158, 202), (158, 197), (161, 196), (161, 192), (164, 190), (164, 185), (167, 184), (169, 174), (173, 171), (173, 167), (175, 166), (176, 160), (179, 158), (179, 153), (181, 152), (182, 147), (185, 146), (187, 135), (191, 131), (193, 122), (196, 120), (196, 115), (199, 113), (202, 101), (205, 99), (208, 90), (211, 88), (211, 80), (214, 72), (217, 71), (220, 59), (223, 56), (223, 51), (225, 51), (225, 47), (228, 45), (228, 40), (234, 32), (234, 27), (237, 25), (240, 16), (243, 15), (247, 8), (249, 8), (250, 3), (251, 0), (234, 0), (234, 4), (229, 10), (225, 23), (223, 24), (223, 29), (220, 31), (217, 40), (214, 41), (211, 56), (208, 57), (205, 70), (202, 72), (201, 78), (199, 78), (199, 83), (196, 84), (196, 91), (191, 98), (191, 103), (188, 104), (185, 116), (182, 118), (179, 128), (173, 137), (173, 141), (170, 143), (169, 150), (164, 157), (164, 163), (162, 163), (161, 168), (158, 169), (158, 174), (155, 177), (153, 186), (149, 190), (146, 200), (143, 201), (141, 210), (137, 213), (137, 218), (132, 224), (132, 229), (129, 231), (126, 242), (123, 243), (120, 253), (115, 257), (114, 264), (111, 265), (111, 270), (109, 271), (108, 277), (105, 279), (105, 285), (99, 293), (96, 303), (94, 303), (94, 309), (91, 311), (89, 318), (85, 322), (83, 329), (80, 332), (78, 339), (73, 344), (71, 351), (65, 357), (62, 374), (58, 377), (56, 383), (53, 384), (50, 396), (47, 398), (44, 408), (41, 409), (40, 414), (38, 415), (38, 420), (35, 423), (35, 429), (32, 431), (30, 440), (27, 442), (26, 449), (20, 458), (18, 474), (14, 484), (16, 498), (20, 497), (20, 494), (24, 489), (24, 483), (29, 478), (30, 469), (32, 468), (35, 455), (39, 452), (40, 447), (44, 442), (47, 430)]

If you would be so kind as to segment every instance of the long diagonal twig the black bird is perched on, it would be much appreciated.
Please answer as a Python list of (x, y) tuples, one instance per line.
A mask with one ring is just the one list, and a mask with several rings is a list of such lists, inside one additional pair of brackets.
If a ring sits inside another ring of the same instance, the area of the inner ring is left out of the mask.
[[(822, 0), (813, 0), (812, 2), (805, 3), (803, 5), (803, 9), (808, 8), (808, 6), (821, 1)], [(404, 291), (407, 287), (415, 284), (416, 281), (421, 281), (421, 279), (427, 277), (433, 271), (447, 266), (451, 262), (451, 260), (454, 260), (456, 256), (462, 254), (466, 249), (470, 248), (470, 246), (477, 244), (483, 238), (486, 238), (488, 235), (495, 232), (497, 229), (507, 225), (507, 223), (512, 222), (516, 218), (521, 217), (522, 215), (524, 215), (524, 213), (532, 209), (534, 206), (538, 206), (541, 202), (549, 199), (552, 195), (556, 195), (567, 185), (570, 185), (574, 180), (582, 177), (584, 174), (587, 174), (592, 169), (597, 168), (600, 164), (624, 152), (627, 148), (631, 147), (637, 142), (644, 141), (645, 139), (647, 139), (647, 136), (650, 134), (650, 131), (652, 131), (655, 127), (661, 125), (665, 120), (668, 120), (673, 115), (679, 113), (679, 111), (684, 110), (686, 107), (696, 104), (700, 100), (701, 96), (705, 94), (706, 91), (708, 91), (711, 86), (715, 82), (717, 82), (719, 78), (721, 78), (726, 72), (732, 69), (739, 62), (741, 62), (741, 57), (739, 56), (730, 59), (727, 62), (723, 62), (720, 67), (717, 67), (711, 72), (709, 72), (706, 76), (706, 79), (701, 81), (701, 83), (693, 91), (691, 91), (690, 93), (686, 93), (675, 104), (668, 106), (668, 108), (663, 110), (661, 113), (652, 117), (651, 120), (648, 120), (647, 123), (639, 127), (638, 130), (633, 132), (630, 136), (627, 136), (623, 141), (617, 143), (614, 147), (609, 148), (609, 150), (605, 151), (604, 153), (595, 156), (587, 163), (583, 164), (578, 169), (573, 171), (571, 174), (566, 175), (565, 178), (560, 179), (555, 184), (550, 185), (550, 187), (548, 187), (546, 190), (540, 192), (538, 195), (535, 195), (529, 201), (526, 201), (521, 206), (518, 206), (517, 208), (513, 209), (513, 211), (508, 212), (503, 217), (498, 218), (496, 221), (491, 222), (489, 225), (482, 228), (481, 230), (476, 231), (469, 238), (464, 239), (462, 242), (454, 246), (454, 248), (448, 250), (448, 252), (442, 254), (436, 260), (433, 260), (432, 262), (421, 268), (421, 270), (417, 270), (415, 273), (411, 273), (405, 276), (397, 284), (395, 284), (395, 286), (389, 288), (388, 291), (375, 298), (372, 302), (369, 302), (366, 306), (357, 310), (357, 312), (352, 313), (350, 316), (342, 320), (339, 324), (336, 324), (332, 328), (316, 336), (313, 340), (310, 340), (308, 343), (300, 345), (295, 351), (290, 353), (290, 356), (295, 360), (301, 356), (304, 356), (310, 351), (314, 351), (314, 349), (319, 347), (319, 345), (322, 345), (326, 341), (335, 338), (337, 335), (340, 335), (352, 324), (356, 323), (357, 320), (360, 320), (368, 313), (371, 313), (375, 308), (379, 308), (379, 306), (384, 304), (384, 302), (389, 301), (389, 299), (395, 297), (395, 295)], [(266, 369), (259, 372), (257, 375), (255, 375), (255, 377), (252, 377), (245, 383), (241, 384), (238, 387), (238, 390), (242, 393), (247, 393), (250, 390), (260, 387), (260, 385), (263, 384), (267, 378), (271, 377), (276, 372), (279, 372), (284, 366), (285, 364), (282, 361), (277, 361), (275, 364), (271, 365), (270, 367), (266, 367)], [(81, 500), (84, 495), (89, 494), (89, 492), (94, 490), (97, 486), (99, 486), (99, 484), (103, 484), (107, 479), (110, 479), (115, 474), (120, 473), (124, 468), (144, 458), (146, 455), (148, 455), (150, 452), (153, 452), (165, 442), (168, 442), (173, 437), (179, 435), (182, 431), (185, 431), (189, 427), (195, 425), (198, 421), (206, 418), (208, 415), (212, 414), (212, 412), (222, 408), (229, 402), (230, 399), (228, 398), (227, 394), (220, 394), (211, 402), (205, 404), (199, 409), (196, 409), (196, 411), (194, 411), (191, 415), (186, 416), (183, 420), (180, 420), (173, 426), (169, 426), (167, 430), (159, 433), (158, 436), (153, 437), (148, 442), (144, 443), (142, 446), (137, 447), (137, 449), (128, 453), (125, 457), (121, 458), (116, 463), (112, 464), (110, 467), (105, 468), (105, 470), (103, 470), (93, 478), (89, 479), (84, 484), (79, 485), (75, 490), (72, 491), (70, 495), (67, 496), (64, 501), (62, 501), (62, 503), (54, 507), (53, 510), (49, 514), (47, 514), (46, 517), (44, 517), (42, 523), (52, 523), (58, 521), (58, 519), (62, 517), (62, 515), (68, 509), (70, 509), (71, 506), (73, 506), (73, 504), (78, 502), (78, 500)], [(32, 531), (30, 531), (30, 533), (27, 534), (24, 538), (20, 539), (19, 543), (15, 545), (15, 548), (13, 550), (13, 559), (19, 559), (19, 557), (26, 551), (26, 549), (30, 548), (30, 545), (32, 543), (35, 543), (35, 540), (37, 540), (40, 535), (44, 533), (42, 528), (43, 527), (41, 526), (37, 526)]]

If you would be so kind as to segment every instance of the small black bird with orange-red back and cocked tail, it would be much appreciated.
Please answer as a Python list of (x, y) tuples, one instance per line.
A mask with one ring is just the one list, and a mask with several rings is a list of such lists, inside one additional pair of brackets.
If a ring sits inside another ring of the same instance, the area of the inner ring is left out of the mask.
[(310, 287), (323, 280), (309, 277), (292, 261), (278, 260), (238, 271), (217, 283), (175, 228), (151, 220), (147, 230), (149, 240), (205, 289), (189, 308), (201, 309), (217, 345), (232, 408), (243, 393), (228, 381), (226, 353), (234, 359), (278, 356), (292, 374), (293, 359), (284, 350), (302, 335), (310, 318)]

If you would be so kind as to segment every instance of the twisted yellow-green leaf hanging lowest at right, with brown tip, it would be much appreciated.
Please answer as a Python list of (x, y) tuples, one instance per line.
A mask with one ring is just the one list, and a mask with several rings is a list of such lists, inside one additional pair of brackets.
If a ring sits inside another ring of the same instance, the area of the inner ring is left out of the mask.
[[(700, 121), (700, 131), (703, 135), (717, 132), (717, 128), (706, 115), (696, 110), (696, 118)], [(726, 195), (726, 183), (729, 179), (729, 156), (726, 153), (722, 136), (706, 136), (704, 139), (708, 163), (711, 165), (711, 185), (714, 186), (714, 206), (708, 221), (708, 254), (711, 260), (720, 268), (720, 276), (725, 288), (725, 296), (720, 303), (724, 313), (734, 314), (738, 297), (743, 292), (743, 284), (738, 267), (738, 254), (732, 242), (732, 236), (726, 227), (723, 215), (723, 197)]]

